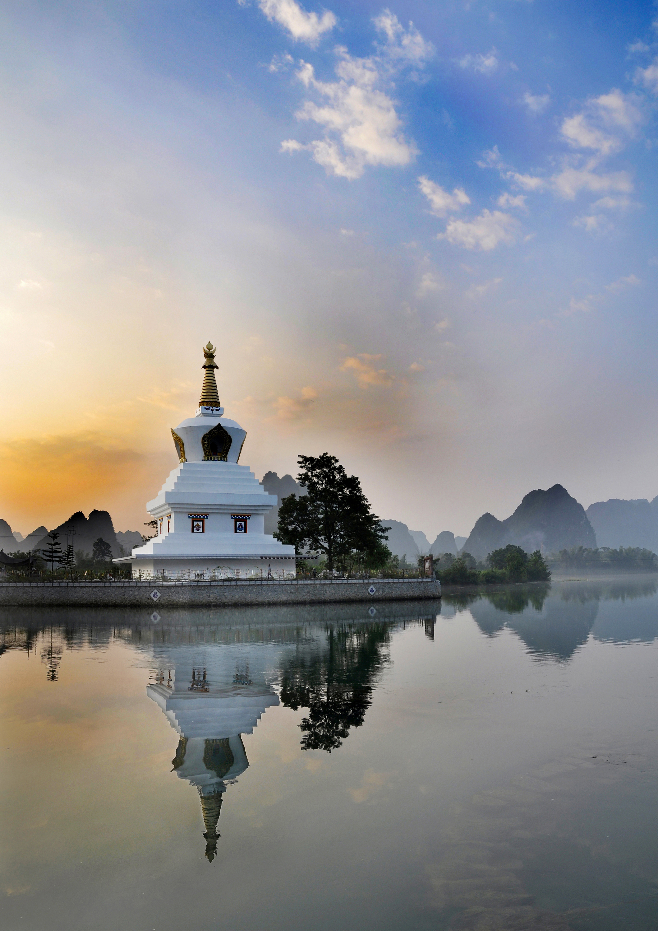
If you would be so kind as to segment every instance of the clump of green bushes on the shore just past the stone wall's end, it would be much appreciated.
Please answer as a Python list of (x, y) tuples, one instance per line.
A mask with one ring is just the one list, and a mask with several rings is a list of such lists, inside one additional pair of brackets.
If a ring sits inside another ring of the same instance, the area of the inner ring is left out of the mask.
[(442, 586), (479, 586), (518, 582), (549, 582), (551, 573), (541, 552), (528, 554), (509, 544), (494, 549), (486, 563), (477, 563), (470, 553), (457, 559), (444, 554), (436, 565), (436, 578)]

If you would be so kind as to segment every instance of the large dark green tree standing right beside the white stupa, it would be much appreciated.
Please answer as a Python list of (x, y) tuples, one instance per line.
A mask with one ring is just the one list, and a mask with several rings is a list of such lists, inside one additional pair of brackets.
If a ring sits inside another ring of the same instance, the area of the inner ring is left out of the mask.
[(289, 494), (281, 502), (275, 537), (298, 552), (324, 553), (327, 566), (362, 557), (383, 564), (390, 552), (383, 544), (388, 527), (370, 510), (355, 475), (347, 475), (335, 456), (299, 456), (297, 480), (306, 494)]

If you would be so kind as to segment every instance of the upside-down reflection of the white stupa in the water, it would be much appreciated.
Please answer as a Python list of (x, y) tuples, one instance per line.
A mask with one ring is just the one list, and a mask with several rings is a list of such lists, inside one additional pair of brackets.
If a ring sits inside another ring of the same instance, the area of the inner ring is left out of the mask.
[(171, 762), (176, 775), (198, 789), (210, 863), (217, 855), (223, 793), (249, 764), (241, 735), (253, 734), (262, 713), (279, 704), (267, 683), (267, 654), (174, 646), (157, 657), (162, 665), (146, 689), (180, 737)]

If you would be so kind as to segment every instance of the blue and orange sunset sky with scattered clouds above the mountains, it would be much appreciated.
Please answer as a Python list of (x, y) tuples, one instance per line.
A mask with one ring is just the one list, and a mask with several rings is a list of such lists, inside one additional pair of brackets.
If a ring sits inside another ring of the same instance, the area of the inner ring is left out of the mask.
[(218, 346), (260, 479), (430, 542), (658, 494), (658, 8), (0, 10), (0, 517), (141, 529)]

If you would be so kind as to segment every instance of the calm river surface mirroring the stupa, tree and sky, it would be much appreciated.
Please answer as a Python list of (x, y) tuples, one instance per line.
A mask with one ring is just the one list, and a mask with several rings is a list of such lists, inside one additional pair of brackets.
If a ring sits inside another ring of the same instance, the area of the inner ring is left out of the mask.
[(2, 927), (658, 927), (658, 594), (0, 615)]

